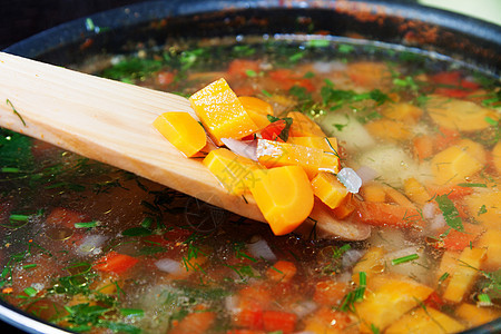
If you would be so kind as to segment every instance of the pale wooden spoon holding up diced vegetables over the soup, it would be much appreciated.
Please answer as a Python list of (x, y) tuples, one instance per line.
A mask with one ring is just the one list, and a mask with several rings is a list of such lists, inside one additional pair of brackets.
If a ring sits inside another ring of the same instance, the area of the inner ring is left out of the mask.
[[(151, 126), (166, 111), (194, 114), (177, 95), (0, 52), (0, 126), (265, 222), (250, 196), (228, 194), (198, 159), (184, 157)], [(371, 233), (328, 215), (316, 228), (353, 240)]]

